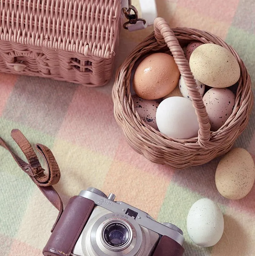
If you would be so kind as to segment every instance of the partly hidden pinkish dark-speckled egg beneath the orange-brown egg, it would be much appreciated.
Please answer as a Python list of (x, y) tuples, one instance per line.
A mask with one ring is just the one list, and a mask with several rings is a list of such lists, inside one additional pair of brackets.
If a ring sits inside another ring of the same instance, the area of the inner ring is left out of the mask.
[(135, 110), (141, 119), (151, 127), (157, 130), (156, 111), (158, 103), (155, 100), (145, 100), (137, 95), (132, 96)]

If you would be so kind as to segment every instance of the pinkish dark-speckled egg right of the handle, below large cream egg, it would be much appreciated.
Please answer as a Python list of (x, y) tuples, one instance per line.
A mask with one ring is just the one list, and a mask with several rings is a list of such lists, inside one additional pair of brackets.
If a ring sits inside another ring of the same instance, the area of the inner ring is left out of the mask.
[(217, 131), (228, 120), (235, 105), (235, 94), (229, 89), (212, 88), (208, 90), (203, 102), (211, 124), (211, 131)]

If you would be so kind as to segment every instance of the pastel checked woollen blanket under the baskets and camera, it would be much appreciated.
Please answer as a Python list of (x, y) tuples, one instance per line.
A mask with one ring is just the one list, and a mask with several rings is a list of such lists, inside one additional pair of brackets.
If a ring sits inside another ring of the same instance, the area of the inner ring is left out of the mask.
[[(132, 1), (134, 5), (138, 1)], [(171, 27), (195, 27), (232, 45), (255, 81), (255, 2), (253, 0), (158, 0), (158, 16)], [(152, 31), (121, 31), (117, 67)], [(184, 170), (153, 164), (135, 153), (113, 117), (111, 82), (87, 88), (43, 78), (0, 74), (0, 135), (20, 155), (10, 137), (20, 129), (32, 142), (47, 145), (58, 161), (61, 180), (55, 189), (63, 198), (89, 186), (113, 192), (158, 221), (178, 225), (185, 236), (185, 256), (253, 256), (255, 254), (255, 186), (245, 198), (232, 201), (216, 190), (219, 159)], [(255, 85), (252, 82), (253, 92)], [(235, 146), (255, 159), (255, 112)], [(42, 255), (57, 210), (0, 149), (0, 255)], [(222, 239), (210, 248), (192, 243), (186, 230), (191, 205), (208, 197), (224, 213)]]

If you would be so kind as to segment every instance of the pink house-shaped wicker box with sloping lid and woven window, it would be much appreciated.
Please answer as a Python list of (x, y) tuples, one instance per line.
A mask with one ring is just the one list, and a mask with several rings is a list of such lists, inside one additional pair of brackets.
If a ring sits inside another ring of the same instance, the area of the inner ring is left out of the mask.
[(1, 1), (0, 72), (104, 85), (120, 12), (120, 0)]

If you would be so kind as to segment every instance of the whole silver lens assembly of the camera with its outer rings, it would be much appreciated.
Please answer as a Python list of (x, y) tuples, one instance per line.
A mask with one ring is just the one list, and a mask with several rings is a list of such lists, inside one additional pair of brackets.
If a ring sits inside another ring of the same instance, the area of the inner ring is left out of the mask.
[(88, 255), (137, 255), (142, 237), (142, 229), (133, 217), (114, 212), (97, 219), (88, 236), (83, 236), (82, 243), (91, 246), (94, 254)]

